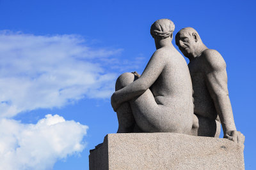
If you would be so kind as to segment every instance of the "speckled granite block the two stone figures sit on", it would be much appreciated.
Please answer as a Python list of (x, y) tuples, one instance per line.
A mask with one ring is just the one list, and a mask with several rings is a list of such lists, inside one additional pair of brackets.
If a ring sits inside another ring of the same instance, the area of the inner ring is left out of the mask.
[(244, 169), (243, 146), (175, 133), (108, 134), (90, 151), (95, 169)]

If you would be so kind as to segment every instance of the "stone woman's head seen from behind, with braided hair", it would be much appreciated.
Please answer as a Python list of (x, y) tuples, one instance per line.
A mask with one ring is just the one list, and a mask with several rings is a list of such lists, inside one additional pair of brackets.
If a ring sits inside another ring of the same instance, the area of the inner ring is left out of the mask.
[(169, 19), (161, 19), (154, 22), (150, 28), (150, 34), (154, 39), (173, 38), (175, 25)]

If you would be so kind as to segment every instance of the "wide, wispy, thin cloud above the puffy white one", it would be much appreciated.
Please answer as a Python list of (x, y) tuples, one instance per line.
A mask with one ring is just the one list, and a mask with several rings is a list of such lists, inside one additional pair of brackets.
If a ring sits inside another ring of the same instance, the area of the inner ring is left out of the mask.
[(104, 68), (120, 51), (89, 48), (76, 35), (1, 31), (0, 117), (111, 96), (116, 74)]

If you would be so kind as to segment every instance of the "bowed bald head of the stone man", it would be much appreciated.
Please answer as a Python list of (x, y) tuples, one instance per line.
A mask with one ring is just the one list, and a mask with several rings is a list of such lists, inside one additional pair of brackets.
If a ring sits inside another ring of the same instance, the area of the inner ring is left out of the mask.
[(200, 46), (203, 45), (198, 32), (192, 27), (180, 29), (175, 36), (175, 43), (179, 46), (184, 56), (188, 58), (193, 57), (200, 49)]

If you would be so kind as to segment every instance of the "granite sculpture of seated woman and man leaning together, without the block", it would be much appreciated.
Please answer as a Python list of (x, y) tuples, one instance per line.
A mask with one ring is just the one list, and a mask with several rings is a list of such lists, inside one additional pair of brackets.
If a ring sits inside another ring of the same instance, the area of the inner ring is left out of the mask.
[(220, 136), (244, 143), (236, 130), (228, 97), (226, 64), (220, 53), (207, 48), (192, 27), (175, 36), (187, 66), (172, 44), (175, 25), (157, 20), (150, 34), (156, 52), (145, 70), (124, 73), (111, 96), (118, 117), (118, 133), (175, 132), (193, 136)]

